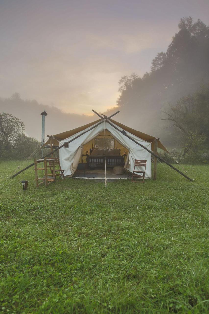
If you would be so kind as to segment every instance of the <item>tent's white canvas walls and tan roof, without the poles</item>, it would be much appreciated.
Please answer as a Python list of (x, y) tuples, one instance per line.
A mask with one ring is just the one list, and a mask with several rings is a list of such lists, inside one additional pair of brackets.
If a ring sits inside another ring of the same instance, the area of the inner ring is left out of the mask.
[[(135, 139), (135, 141), (141, 143), (149, 150), (153, 150), (155, 137), (136, 131), (112, 119), (110, 119), (110, 121), (112, 125), (105, 122), (105, 120), (99, 119), (82, 127), (53, 135), (53, 138), (51, 138), (51, 143), (55, 146), (62, 146), (65, 142), (68, 142), (78, 136), (78, 138), (69, 144), (68, 148), (60, 149), (60, 164), (62, 169), (66, 169), (64, 172), (65, 176), (72, 176), (75, 173), (79, 162), (81, 162), (82, 154), (85, 154), (86, 151), (90, 151), (90, 148), (94, 147), (96, 138), (104, 137), (114, 139), (114, 147), (117, 149), (120, 148), (121, 154), (123, 154), (124, 150), (126, 151), (127, 158), (124, 168), (127, 171), (133, 171), (134, 161), (136, 159), (147, 160), (145, 176), (152, 176), (151, 154), (129, 138), (124, 137), (123, 134), (114, 128), (114, 126), (116, 126), (119, 130), (125, 130), (127, 135), (131, 136), (131, 138)], [(99, 122), (101, 123), (97, 125)], [(95, 125), (97, 126), (94, 127)], [(94, 128), (92, 129), (92, 127)], [(84, 131), (87, 132), (79, 136)], [(44, 145), (49, 143), (50, 139), (48, 139)], [(158, 141), (158, 147), (168, 152), (168, 150), (160, 141)]]

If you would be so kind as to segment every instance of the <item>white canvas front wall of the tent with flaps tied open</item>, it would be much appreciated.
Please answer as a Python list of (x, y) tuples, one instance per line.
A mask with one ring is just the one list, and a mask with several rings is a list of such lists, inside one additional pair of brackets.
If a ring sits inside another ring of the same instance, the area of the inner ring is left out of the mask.
[[(96, 124), (96, 123), (95, 123)], [(86, 128), (86, 130), (90, 129), (93, 125)], [(122, 130), (118, 125), (117, 127)], [(131, 141), (129, 138), (124, 137), (119, 131), (117, 131), (114, 127), (112, 127), (109, 123), (101, 123), (97, 127), (89, 132), (83, 134), (76, 140), (72, 141), (69, 144), (68, 148), (60, 149), (60, 164), (62, 169), (66, 169), (64, 172), (65, 176), (72, 176), (78, 167), (78, 163), (80, 161), (83, 145), (87, 144), (89, 141), (92, 141), (95, 137), (97, 137), (104, 129), (110, 132), (110, 134), (119, 142), (123, 147), (126, 147), (129, 150), (129, 154), (127, 156), (126, 164), (124, 168), (130, 172), (133, 171), (135, 159), (147, 160), (146, 166), (146, 177), (151, 177), (151, 154), (147, 152), (145, 149)], [(65, 142), (68, 142), (70, 139), (75, 136), (83, 133), (83, 130), (73, 134), (72, 136), (65, 138), (64, 140), (59, 141), (59, 146), (62, 146)], [(142, 143), (147, 149), (151, 150), (151, 143), (144, 141), (143, 139), (127, 132), (133, 139)]]

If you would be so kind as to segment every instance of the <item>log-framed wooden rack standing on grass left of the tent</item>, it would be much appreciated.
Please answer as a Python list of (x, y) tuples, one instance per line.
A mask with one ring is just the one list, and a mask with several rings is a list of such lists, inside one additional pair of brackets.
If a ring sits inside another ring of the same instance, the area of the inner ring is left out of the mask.
[[(43, 168), (39, 168), (37, 165), (39, 163), (44, 163), (44, 167)], [(48, 173), (47, 172), (47, 168), (49, 167), (47, 165), (47, 163), (49, 163), (50, 166), (50, 170), (52, 169), (52, 173)], [(44, 158), (44, 159), (34, 159), (34, 170), (35, 170), (35, 183), (36, 183), (36, 187), (40, 187), (41, 184), (45, 183), (45, 186), (47, 187), (50, 183), (55, 181), (55, 160), (53, 158)], [(44, 177), (40, 177), (38, 176), (38, 171), (39, 170), (44, 170)], [(41, 181), (39, 183), (39, 181)]]

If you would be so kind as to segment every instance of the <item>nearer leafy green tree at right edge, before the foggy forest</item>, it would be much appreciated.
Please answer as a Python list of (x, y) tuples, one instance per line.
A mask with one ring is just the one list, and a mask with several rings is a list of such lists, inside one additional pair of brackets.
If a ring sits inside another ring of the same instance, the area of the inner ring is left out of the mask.
[(167, 120), (181, 135), (183, 154), (209, 149), (209, 88), (182, 97), (176, 106), (163, 111)]

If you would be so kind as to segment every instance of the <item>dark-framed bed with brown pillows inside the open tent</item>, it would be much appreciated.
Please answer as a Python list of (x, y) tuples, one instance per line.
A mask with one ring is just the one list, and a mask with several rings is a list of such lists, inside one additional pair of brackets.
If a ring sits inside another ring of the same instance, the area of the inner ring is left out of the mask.
[(90, 155), (87, 156), (87, 163), (90, 168), (113, 168), (124, 165), (124, 157), (120, 155), (120, 149), (90, 149)]

